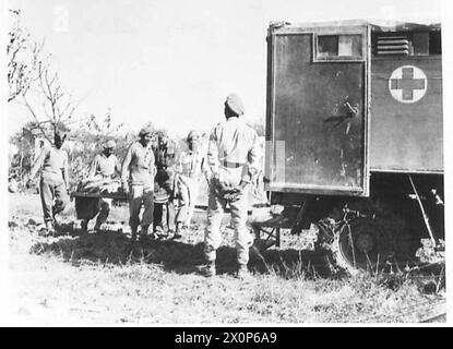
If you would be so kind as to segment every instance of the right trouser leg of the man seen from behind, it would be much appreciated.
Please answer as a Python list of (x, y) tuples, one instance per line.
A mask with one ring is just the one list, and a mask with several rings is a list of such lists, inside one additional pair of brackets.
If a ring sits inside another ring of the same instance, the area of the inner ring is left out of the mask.
[(249, 249), (253, 244), (253, 237), (247, 228), (248, 200), (247, 195), (240, 195), (230, 203), (231, 221), (235, 227), (236, 252), (239, 265), (249, 262)]

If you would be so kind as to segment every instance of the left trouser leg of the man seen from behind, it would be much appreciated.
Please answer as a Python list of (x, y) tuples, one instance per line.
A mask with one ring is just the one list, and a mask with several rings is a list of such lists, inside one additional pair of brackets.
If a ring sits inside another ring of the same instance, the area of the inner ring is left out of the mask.
[(220, 224), (226, 202), (210, 191), (207, 202), (207, 226), (204, 231), (204, 256), (207, 262), (214, 262), (216, 251), (222, 243)]

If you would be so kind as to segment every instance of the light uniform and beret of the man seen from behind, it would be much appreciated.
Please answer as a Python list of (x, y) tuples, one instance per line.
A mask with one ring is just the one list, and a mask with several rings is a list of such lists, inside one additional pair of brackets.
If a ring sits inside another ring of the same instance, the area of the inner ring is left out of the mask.
[(226, 106), (236, 113), (236, 117), (227, 117), (227, 120), (217, 124), (210, 134), (207, 164), (212, 171), (212, 180), (207, 203), (204, 254), (206, 261), (213, 265), (216, 250), (222, 242), (222, 217), (226, 205), (229, 204), (235, 228), (237, 261), (239, 270), (241, 270), (247, 269), (249, 248), (253, 243), (253, 238), (247, 228), (248, 195), (239, 190), (231, 200), (223, 189), (237, 189), (242, 183), (250, 182), (251, 177), (258, 171), (255, 167), (258, 134), (238, 118), (243, 113), (243, 107), (236, 95), (227, 97)]

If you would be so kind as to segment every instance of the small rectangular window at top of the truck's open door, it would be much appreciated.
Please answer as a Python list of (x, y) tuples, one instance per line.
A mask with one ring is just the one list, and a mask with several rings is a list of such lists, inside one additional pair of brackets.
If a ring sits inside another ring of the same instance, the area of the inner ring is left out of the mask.
[(361, 34), (317, 35), (315, 60), (362, 59)]

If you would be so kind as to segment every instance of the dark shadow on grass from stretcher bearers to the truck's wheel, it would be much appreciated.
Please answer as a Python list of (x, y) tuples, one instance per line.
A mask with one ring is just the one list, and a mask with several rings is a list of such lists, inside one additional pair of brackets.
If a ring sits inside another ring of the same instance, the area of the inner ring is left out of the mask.
[[(203, 243), (176, 240), (132, 242), (119, 231), (85, 233), (72, 231), (55, 237), (53, 241), (38, 242), (31, 253), (50, 253), (75, 266), (83, 263), (132, 265), (158, 264), (178, 274), (200, 273), (204, 263)], [(323, 256), (317, 252), (297, 250), (269, 250), (262, 254), (251, 250), (249, 268), (255, 274), (275, 274), (283, 277), (329, 276)], [(220, 246), (217, 250), (217, 273), (234, 274), (237, 269), (236, 249)]]

